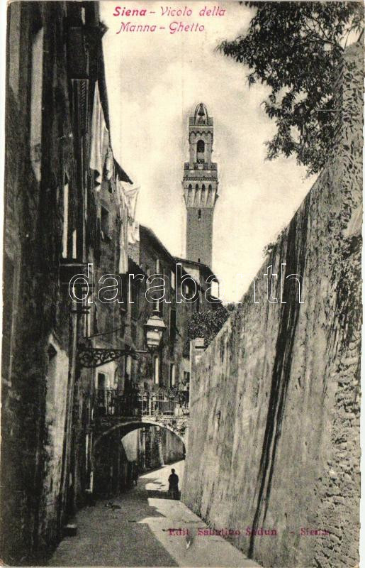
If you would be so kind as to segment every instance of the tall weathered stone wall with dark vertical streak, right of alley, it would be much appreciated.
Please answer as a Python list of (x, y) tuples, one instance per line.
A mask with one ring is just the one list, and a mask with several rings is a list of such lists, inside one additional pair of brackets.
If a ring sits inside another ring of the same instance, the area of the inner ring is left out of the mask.
[(335, 148), (257, 275), (259, 303), (252, 284), (191, 381), (182, 499), (264, 566), (358, 562), (361, 55), (344, 55)]

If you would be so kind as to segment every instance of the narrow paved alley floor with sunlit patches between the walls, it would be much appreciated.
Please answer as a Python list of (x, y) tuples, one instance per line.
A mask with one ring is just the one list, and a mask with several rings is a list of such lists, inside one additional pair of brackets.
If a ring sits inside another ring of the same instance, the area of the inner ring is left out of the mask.
[[(113, 501), (80, 510), (77, 536), (65, 537), (48, 564), (257, 567), (222, 537), (197, 535), (207, 525), (181, 501), (168, 499), (172, 467), (182, 481), (184, 461), (179, 461), (140, 476), (136, 488)], [(191, 544), (185, 535), (170, 535), (171, 528), (188, 529)]]

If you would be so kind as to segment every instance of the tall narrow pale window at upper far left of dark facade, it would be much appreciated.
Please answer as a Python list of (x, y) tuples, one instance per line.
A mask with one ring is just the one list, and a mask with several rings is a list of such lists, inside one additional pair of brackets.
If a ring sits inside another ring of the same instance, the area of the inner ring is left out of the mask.
[(40, 181), (42, 138), (43, 28), (33, 26), (30, 77), (30, 161), (36, 180)]

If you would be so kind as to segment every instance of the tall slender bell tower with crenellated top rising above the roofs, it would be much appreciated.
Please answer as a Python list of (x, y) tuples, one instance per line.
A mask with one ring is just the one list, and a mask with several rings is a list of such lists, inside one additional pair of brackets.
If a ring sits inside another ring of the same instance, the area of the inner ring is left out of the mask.
[(213, 212), (218, 198), (217, 164), (212, 162), (213, 118), (202, 102), (189, 117), (189, 162), (184, 163), (186, 259), (211, 267)]

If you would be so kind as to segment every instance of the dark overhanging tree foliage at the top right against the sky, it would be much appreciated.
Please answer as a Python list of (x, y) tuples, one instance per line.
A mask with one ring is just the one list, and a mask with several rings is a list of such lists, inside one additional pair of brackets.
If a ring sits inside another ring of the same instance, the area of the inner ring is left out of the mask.
[(218, 46), (249, 67), (249, 85), (271, 89), (262, 104), (276, 122), (267, 158), (296, 155), (318, 173), (332, 145), (334, 69), (363, 29), (362, 2), (241, 2), (256, 9), (245, 35)]

